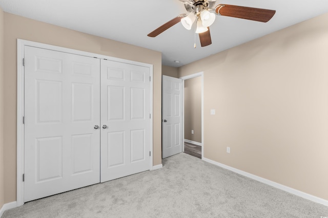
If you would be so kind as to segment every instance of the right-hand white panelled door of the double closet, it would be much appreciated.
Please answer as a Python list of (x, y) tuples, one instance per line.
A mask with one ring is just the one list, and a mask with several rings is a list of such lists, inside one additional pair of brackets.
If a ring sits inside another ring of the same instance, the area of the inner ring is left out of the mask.
[(101, 182), (150, 168), (150, 69), (101, 60)]

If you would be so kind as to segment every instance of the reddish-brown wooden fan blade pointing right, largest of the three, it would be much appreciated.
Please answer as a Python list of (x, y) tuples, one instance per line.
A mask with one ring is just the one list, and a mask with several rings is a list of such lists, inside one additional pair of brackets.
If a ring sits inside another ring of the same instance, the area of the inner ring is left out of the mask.
[(267, 23), (276, 13), (274, 10), (249, 8), (236, 5), (218, 5), (215, 7), (216, 14), (242, 19), (250, 19)]

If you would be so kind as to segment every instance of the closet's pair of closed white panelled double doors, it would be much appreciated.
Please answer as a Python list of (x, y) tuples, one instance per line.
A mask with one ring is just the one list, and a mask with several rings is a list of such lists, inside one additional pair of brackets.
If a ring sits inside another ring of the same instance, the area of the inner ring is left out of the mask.
[(150, 169), (149, 67), (24, 53), (24, 202)]

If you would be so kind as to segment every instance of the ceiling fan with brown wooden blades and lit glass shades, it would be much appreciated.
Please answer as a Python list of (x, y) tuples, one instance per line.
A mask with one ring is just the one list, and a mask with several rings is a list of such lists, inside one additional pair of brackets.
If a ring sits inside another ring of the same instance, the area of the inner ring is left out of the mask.
[[(274, 10), (249, 8), (235, 5), (219, 4), (214, 7), (216, 0), (178, 1), (185, 4), (185, 8), (189, 14), (180, 14), (179, 16), (171, 19), (167, 23), (158, 27), (153, 32), (149, 33), (149, 37), (155, 37), (179, 22), (181, 22), (183, 27), (185, 27), (187, 30), (190, 30), (196, 21), (197, 23), (195, 25), (195, 33), (199, 34), (200, 45), (201, 47), (204, 47), (212, 44), (210, 26), (214, 23), (215, 14), (267, 23), (276, 13)], [(215, 14), (211, 13), (212, 11), (214, 11)], [(196, 48), (196, 44), (194, 47)]]

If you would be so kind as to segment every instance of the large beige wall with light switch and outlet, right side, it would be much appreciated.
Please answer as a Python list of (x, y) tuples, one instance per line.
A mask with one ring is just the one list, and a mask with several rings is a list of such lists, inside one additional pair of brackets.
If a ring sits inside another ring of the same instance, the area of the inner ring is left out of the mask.
[(179, 69), (204, 72), (205, 158), (328, 200), (327, 24), (324, 14)]

